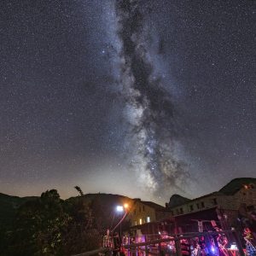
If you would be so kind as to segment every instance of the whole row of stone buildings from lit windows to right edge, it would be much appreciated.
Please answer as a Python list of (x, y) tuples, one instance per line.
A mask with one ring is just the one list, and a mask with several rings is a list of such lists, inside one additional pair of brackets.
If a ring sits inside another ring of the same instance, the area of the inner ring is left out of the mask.
[(131, 200), (127, 218), (130, 230), (148, 234), (177, 234), (213, 230), (212, 223), (223, 230), (241, 229), (241, 215), (256, 210), (256, 178), (236, 178), (222, 189), (190, 200), (172, 195), (166, 207), (151, 201)]

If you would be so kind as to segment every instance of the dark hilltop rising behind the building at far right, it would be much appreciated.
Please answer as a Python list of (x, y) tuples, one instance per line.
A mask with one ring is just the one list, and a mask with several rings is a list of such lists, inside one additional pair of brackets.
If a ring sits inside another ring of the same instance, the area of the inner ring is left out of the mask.
[(234, 195), (244, 185), (247, 185), (250, 183), (256, 184), (256, 178), (253, 178), (253, 177), (234, 178), (230, 181), (230, 183), (227, 183), (222, 189), (219, 189), (218, 192), (223, 193), (224, 195)]

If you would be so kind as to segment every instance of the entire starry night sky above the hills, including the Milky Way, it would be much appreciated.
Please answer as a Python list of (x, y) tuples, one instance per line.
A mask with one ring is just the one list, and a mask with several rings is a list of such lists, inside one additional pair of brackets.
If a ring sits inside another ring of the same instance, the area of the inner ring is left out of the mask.
[(164, 203), (255, 177), (256, 1), (0, 1), (0, 191)]

